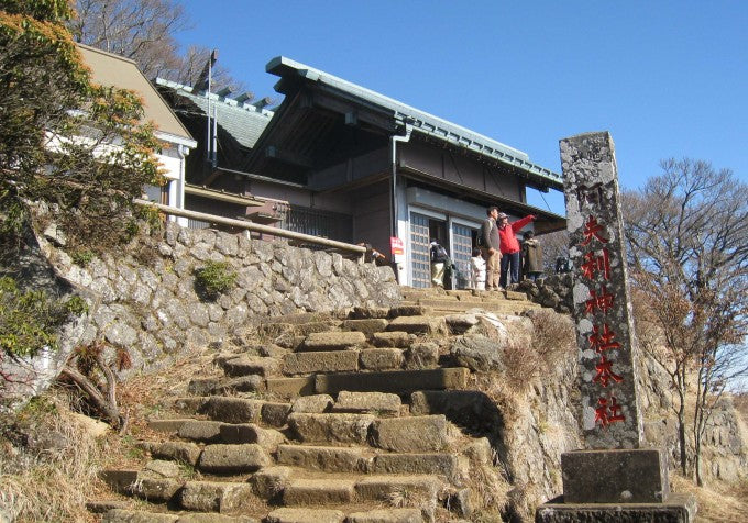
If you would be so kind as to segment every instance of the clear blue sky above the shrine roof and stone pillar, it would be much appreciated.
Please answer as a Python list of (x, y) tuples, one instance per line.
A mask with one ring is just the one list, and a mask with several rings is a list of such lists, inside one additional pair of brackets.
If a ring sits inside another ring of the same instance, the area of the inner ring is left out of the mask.
[[(519, 148), (610, 132), (624, 188), (667, 157), (748, 178), (748, 2), (185, 0), (185, 46), (257, 97), (284, 55)], [(563, 213), (551, 191), (531, 203)]]

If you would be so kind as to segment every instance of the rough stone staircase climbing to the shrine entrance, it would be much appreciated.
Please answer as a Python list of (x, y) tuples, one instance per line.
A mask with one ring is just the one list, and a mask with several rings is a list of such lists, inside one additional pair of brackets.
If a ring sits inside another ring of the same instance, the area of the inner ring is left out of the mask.
[(493, 450), (450, 421), (474, 392), (446, 347), (475, 324), (465, 311), (536, 307), (507, 294), (405, 289), (392, 309), (270, 319), (148, 420), (142, 466), (101, 474), (123, 496), (89, 510), (110, 523), (469, 520)]

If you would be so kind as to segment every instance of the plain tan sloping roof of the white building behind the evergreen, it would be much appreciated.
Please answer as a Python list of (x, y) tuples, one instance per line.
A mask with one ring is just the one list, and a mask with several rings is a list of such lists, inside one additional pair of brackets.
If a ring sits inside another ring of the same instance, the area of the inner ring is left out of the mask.
[(168, 103), (143, 76), (133, 60), (88, 45), (77, 45), (84, 62), (91, 69), (94, 82), (129, 89), (141, 96), (145, 120), (153, 121), (156, 124), (157, 131), (161, 132), (157, 134), (162, 134), (158, 137), (174, 138), (173, 141), (183, 142), (183, 145), (188, 147), (197, 145), (189, 131), (182, 124)]

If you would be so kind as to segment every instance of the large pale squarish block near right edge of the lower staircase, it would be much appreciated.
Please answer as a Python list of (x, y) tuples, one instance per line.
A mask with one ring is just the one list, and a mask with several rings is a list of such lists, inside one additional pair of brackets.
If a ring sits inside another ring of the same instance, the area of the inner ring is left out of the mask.
[(447, 419), (441, 415), (376, 420), (371, 431), (372, 444), (397, 453), (439, 452), (447, 447)]

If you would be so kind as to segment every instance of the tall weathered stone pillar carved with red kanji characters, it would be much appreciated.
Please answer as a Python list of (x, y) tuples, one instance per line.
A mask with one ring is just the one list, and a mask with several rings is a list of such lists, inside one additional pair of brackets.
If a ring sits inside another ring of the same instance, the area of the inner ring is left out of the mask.
[(560, 142), (582, 429), (588, 449), (638, 448), (636, 353), (613, 140), (607, 132)]

